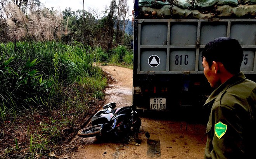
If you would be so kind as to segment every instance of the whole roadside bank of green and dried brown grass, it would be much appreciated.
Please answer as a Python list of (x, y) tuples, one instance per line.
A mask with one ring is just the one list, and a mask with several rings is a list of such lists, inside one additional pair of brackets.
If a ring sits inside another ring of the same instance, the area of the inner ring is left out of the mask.
[(81, 43), (16, 45), (0, 44), (0, 156), (47, 156), (103, 99), (107, 79)]

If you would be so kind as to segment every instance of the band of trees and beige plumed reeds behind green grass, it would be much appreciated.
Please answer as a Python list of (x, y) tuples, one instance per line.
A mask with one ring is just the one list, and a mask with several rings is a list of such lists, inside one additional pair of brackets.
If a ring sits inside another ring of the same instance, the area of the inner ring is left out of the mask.
[(75, 40), (106, 50), (129, 45), (133, 28), (127, 0), (109, 2), (104, 11), (60, 11), (44, 7), (40, 0), (0, 0), (0, 42), (55, 40), (68, 44)]

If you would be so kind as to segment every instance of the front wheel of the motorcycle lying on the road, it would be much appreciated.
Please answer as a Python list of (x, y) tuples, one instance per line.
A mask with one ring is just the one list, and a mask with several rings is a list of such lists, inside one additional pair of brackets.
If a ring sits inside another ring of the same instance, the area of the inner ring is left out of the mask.
[(80, 137), (94, 137), (100, 135), (101, 125), (89, 126), (78, 131), (77, 135)]

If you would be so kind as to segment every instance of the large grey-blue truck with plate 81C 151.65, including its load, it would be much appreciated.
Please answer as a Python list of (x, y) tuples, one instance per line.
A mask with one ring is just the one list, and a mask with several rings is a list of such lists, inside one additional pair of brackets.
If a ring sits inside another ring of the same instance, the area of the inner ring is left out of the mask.
[(201, 108), (213, 91), (201, 53), (218, 37), (239, 41), (244, 51), (241, 71), (256, 81), (256, 1), (207, 2), (134, 0), (133, 107)]

